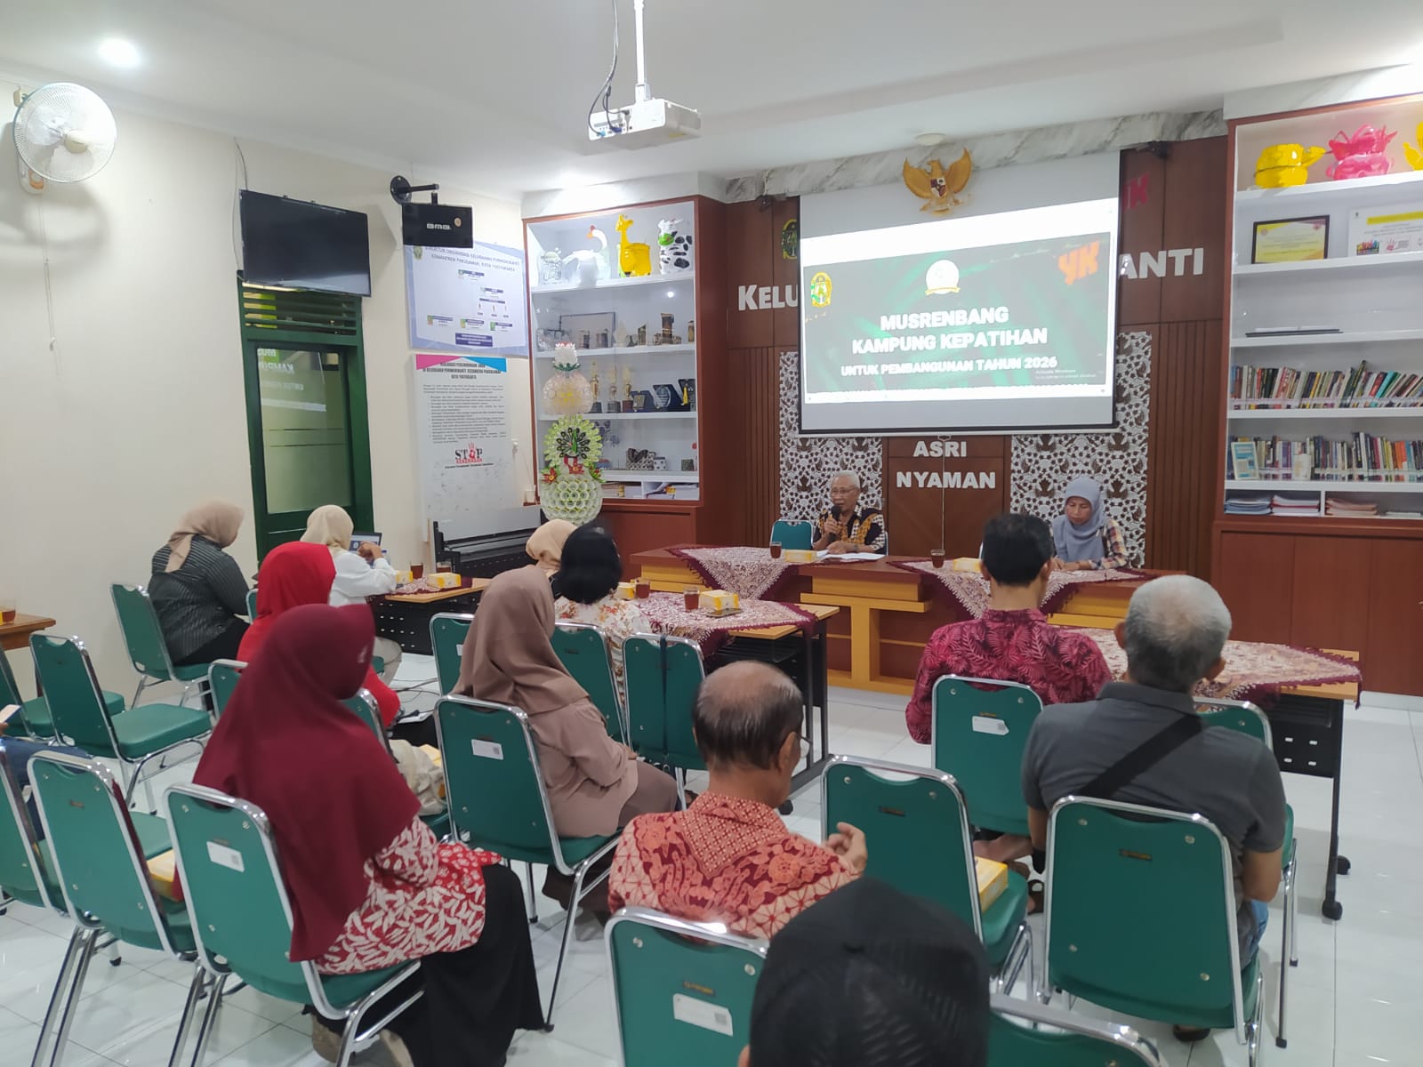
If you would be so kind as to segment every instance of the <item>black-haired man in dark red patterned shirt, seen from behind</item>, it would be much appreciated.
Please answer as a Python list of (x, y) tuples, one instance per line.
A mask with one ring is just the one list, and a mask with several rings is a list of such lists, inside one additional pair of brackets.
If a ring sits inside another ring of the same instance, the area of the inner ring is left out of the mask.
[[(982, 562), (988, 610), (982, 619), (941, 626), (924, 646), (919, 676), (904, 717), (909, 736), (929, 744), (933, 683), (945, 674), (1016, 681), (1043, 706), (1096, 700), (1111, 681), (1097, 643), (1053, 626), (1037, 606), (1053, 568), (1053, 535), (1036, 515), (998, 515), (983, 526)], [(1027, 838), (979, 842), (979, 855), (1016, 859), (1029, 854)]]

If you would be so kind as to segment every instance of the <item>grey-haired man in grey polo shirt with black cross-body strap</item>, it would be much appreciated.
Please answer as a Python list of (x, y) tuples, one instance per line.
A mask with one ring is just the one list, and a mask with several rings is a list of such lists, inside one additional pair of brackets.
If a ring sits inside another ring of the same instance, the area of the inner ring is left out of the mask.
[[(1029, 734), (1023, 800), (1035, 848), (1046, 845), (1053, 804), (1195, 714), (1191, 691), (1225, 669), (1229, 632), (1220, 593), (1197, 578), (1158, 578), (1131, 596), (1117, 625), (1126, 680), (1107, 683), (1086, 704), (1044, 708)], [(1205, 728), (1103, 800), (1198, 812), (1215, 824), (1234, 856), (1241, 965), (1251, 960), (1265, 930), (1265, 902), (1279, 888), (1285, 841), (1285, 787), (1274, 753), (1235, 730)]]

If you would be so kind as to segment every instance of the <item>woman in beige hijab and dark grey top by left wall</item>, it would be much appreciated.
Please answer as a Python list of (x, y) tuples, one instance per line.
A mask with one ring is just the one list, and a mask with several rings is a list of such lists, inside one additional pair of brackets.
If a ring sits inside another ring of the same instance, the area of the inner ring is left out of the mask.
[(176, 666), (238, 657), (248, 632), (248, 580), (223, 552), (242, 529), (242, 508), (206, 501), (154, 552), (148, 596)]

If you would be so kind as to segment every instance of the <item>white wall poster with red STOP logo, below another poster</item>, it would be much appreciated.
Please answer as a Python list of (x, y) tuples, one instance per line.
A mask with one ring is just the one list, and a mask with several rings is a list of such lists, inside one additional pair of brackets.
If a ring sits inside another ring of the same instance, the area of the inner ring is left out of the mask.
[(509, 360), (416, 354), (416, 427), (427, 519), (474, 534), (525, 521), (511, 434)]

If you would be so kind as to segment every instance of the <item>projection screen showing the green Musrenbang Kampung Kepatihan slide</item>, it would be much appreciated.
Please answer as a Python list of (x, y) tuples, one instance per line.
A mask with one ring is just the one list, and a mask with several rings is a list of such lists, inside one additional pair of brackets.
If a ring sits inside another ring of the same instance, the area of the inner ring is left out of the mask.
[(1111, 425), (1114, 175), (1107, 188), (888, 229), (803, 221), (801, 431)]

